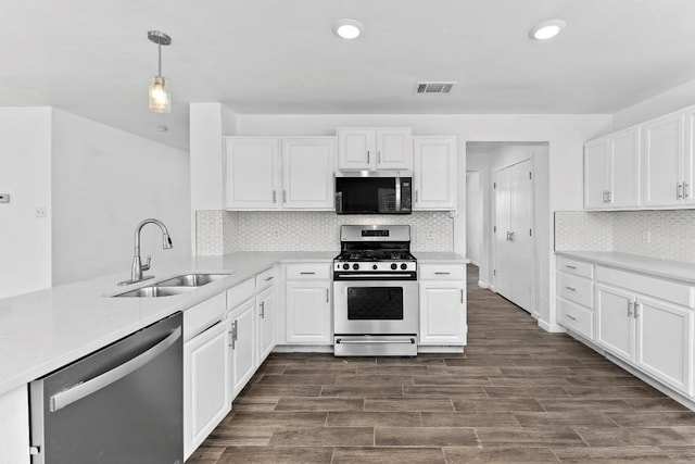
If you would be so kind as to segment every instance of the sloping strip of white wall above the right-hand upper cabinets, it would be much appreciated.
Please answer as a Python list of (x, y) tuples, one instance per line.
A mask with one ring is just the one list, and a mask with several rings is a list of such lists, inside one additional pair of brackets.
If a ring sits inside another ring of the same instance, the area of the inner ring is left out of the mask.
[(612, 130), (620, 130), (695, 104), (695, 79), (673, 87), (612, 115)]

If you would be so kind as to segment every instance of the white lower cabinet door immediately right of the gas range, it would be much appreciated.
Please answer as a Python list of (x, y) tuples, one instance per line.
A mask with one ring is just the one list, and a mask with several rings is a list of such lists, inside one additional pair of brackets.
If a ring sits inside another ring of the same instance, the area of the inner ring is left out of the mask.
[(466, 344), (463, 285), (420, 283), (420, 344)]

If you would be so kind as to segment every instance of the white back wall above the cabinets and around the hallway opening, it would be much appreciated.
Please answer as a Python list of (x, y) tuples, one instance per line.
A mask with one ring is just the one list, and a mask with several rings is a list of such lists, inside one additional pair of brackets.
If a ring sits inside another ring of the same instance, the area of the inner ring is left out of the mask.
[[(414, 135), (454, 135), (458, 137), (458, 204), (466, 204), (467, 141), (544, 141), (548, 154), (548, 220), (545, 237), (553, 236), (553, 211), (582, 209), (582, 153), (585, 140), (610, 128), (609, 115), (458, 114), (458, 115), (239, 115), (239, 135), (334, 135), (340, 126), (410, 126)], [(470, 167), (469, 167), (470, 168)], [(466, 217), (454, 220), (454, 250), (466, 253)], [(542, 296), (541, 319), (548, 329), (555, 324), (555, 260), (552, 243), (540, 250), (548, 267), (548, 283)]]

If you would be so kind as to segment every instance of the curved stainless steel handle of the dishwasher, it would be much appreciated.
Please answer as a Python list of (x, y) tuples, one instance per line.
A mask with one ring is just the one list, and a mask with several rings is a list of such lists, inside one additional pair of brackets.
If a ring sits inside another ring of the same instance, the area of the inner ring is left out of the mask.
[(50, 411), (52, 413), (62, 410), (72, 403), (81, 400), (85, 397), (90, 396), (104, 387), (110, 386), (116, 380), (134, 373), (156, 356), (165, 352), (172, 344), (181, 337), (181, 327), (178, 326), (163, 340), (157, 342), (154, 347), (150, 348), (144, 353), (140, 353), (129, 361), (121, 364), (117, 367), (112, 368), (94, 378), (91, 378), (85, 383), (77, 384), (74, 387), (63, 390), (49, 398)]

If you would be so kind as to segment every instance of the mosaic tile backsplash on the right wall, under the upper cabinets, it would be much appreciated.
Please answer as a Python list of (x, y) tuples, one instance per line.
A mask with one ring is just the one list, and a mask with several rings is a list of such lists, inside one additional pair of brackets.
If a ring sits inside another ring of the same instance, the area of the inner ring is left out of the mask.
[(556, 212), (555, 249), (695, 263), (695, 210)]

